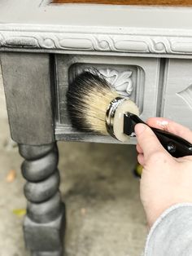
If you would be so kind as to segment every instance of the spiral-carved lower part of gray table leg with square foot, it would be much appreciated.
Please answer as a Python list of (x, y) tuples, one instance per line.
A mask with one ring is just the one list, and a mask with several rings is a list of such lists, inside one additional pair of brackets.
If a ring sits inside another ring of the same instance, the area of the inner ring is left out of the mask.
[(64, 204), (59, 193), (59, 155), (56, 143), (20, 145), (21, 166), (28, 200), (24, 218), (25, 244), (33, 256), (63, 255)]

